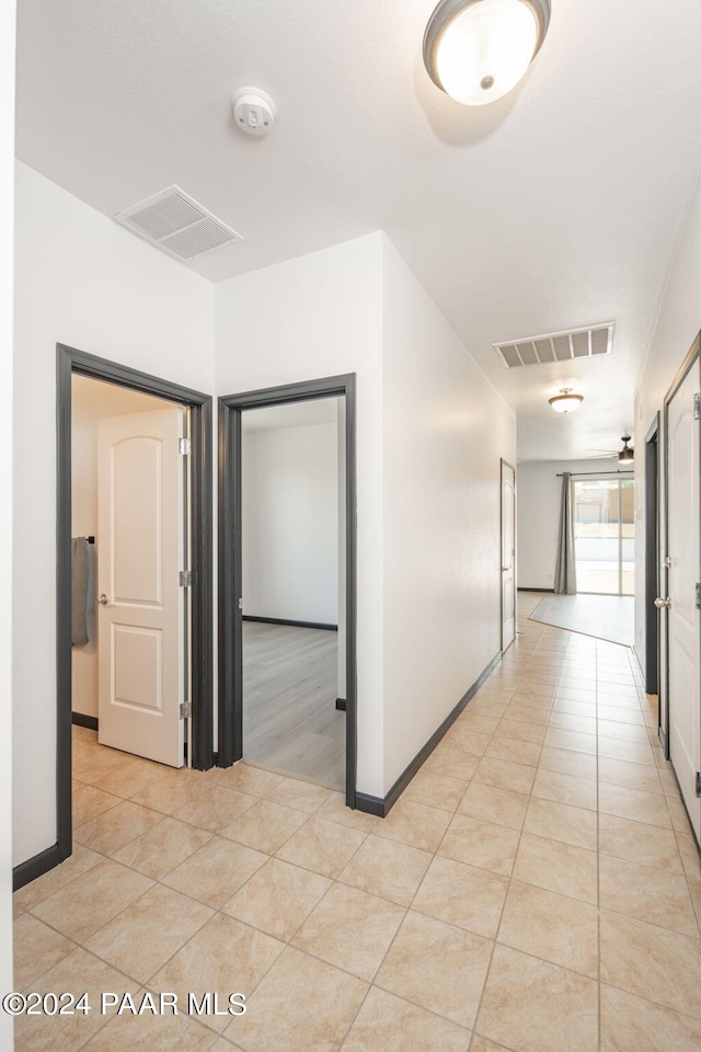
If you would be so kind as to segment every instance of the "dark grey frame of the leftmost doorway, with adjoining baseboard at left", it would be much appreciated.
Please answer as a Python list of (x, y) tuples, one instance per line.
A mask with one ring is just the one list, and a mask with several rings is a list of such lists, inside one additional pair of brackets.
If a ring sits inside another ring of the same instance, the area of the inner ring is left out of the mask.
[(72, 853), (71, 815), (71, 379), (73, 374), (169, 399), (191, 411), (192, 702), (194, 767), (214, 766), (212, 399), (116, 362), (56, 346), (56, 844), (14, 871), (15, 888)]

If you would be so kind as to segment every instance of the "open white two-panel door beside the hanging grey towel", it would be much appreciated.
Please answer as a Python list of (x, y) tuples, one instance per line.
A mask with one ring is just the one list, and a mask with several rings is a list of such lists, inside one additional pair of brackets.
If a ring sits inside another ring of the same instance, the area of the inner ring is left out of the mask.
[(97, 428), (99, 739), (183, 766), (181, 408)]

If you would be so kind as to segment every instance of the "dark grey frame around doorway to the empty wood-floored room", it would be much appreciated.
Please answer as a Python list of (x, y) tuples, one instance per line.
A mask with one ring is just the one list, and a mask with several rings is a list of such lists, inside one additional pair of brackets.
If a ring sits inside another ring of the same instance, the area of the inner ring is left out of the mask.
[(219, 752), (229, 767), (243, 756), (243, 594), (241, 537), (241, 413), (318, 398), (345, 398), (346, 408), (346, 804), (356, 805), (356, 401), (355, 374), (286, 384), (219, 399)]

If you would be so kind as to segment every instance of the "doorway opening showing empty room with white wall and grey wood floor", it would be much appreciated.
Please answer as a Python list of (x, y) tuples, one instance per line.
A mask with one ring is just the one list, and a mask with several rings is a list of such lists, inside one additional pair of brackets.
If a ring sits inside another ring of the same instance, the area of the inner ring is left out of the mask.
[(332, 789), (345, 786), (341, 401), (244, 410), (241, 448), (243, 756)]

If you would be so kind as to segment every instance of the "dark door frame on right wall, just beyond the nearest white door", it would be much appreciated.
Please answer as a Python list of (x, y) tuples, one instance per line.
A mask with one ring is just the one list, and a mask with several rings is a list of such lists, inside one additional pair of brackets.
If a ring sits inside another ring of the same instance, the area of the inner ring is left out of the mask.
[[(645, 693), (659, 688), (659, 413), (645, 435)], [(659, 721), (658, 706), (658, 730)]]

